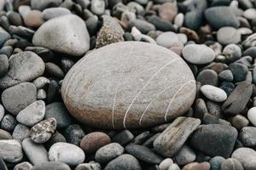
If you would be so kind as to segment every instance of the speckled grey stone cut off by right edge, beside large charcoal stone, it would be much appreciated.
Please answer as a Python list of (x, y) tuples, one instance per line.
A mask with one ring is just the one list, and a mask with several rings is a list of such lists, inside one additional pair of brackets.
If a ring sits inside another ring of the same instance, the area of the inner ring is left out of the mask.
[(239, 139), (244, 146), (256, 146), (256, 127), (243, 127), (239, 133)]

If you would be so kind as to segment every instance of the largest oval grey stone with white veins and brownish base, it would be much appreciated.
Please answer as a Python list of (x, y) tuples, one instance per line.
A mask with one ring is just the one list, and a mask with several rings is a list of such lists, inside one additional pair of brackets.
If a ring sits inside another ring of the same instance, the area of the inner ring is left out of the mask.
[(119, 42), (79, 60), (62, 82), (61, 94), (67, 110), (90, 126), (150, 127), (189, 110), (195, 78), (169, 49)]

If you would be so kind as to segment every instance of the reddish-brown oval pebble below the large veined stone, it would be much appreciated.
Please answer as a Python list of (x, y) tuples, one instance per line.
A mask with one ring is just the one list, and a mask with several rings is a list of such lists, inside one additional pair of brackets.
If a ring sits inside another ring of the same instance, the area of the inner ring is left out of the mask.
[(80, 147), (85, 153), (96, 152), (102, 146), (109, 144), (111, 139), (108, 134), (102, 132), (89, 133), (81, 140)]

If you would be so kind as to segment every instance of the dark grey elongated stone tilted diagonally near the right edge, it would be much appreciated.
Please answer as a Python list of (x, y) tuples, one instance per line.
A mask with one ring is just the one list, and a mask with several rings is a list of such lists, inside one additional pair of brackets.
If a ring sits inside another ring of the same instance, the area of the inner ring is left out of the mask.
[(240, 82), (230, 94), (228, 99), (222, 105), (222, 109), (227, 115), (237, 115), (246, 107), (251, 95), (253, 87), (250, 82)]

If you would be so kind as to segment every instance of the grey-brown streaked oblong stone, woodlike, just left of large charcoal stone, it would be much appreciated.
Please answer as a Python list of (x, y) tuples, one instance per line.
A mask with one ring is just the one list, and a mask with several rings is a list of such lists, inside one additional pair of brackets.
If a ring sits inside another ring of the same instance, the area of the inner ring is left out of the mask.
[(154, 140), (154, 150), (161, 156), (174, 156), (200, 124), (200, 119), (178, 117)]

